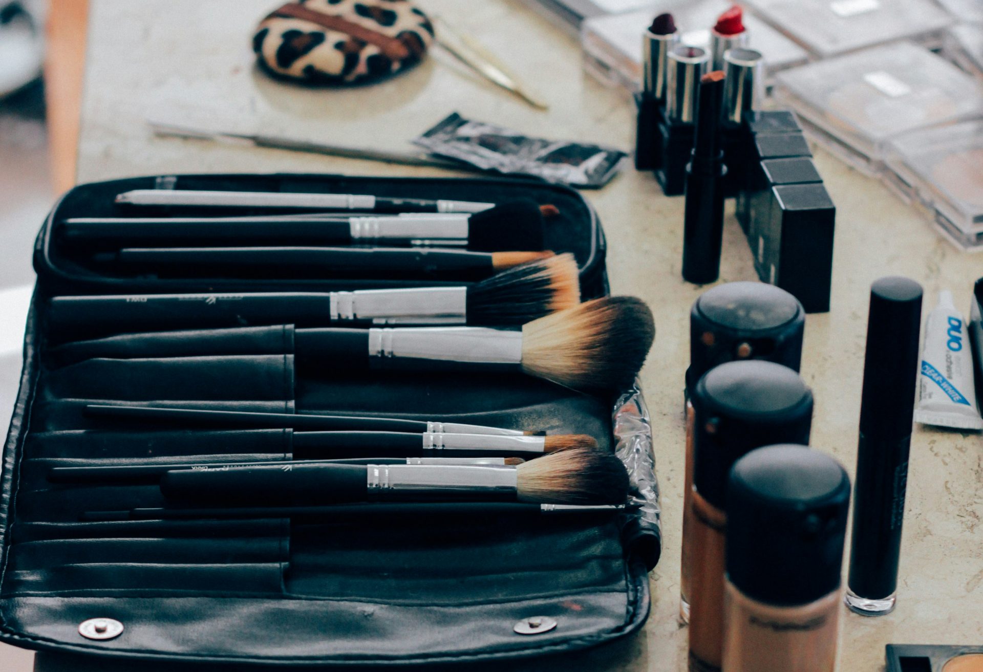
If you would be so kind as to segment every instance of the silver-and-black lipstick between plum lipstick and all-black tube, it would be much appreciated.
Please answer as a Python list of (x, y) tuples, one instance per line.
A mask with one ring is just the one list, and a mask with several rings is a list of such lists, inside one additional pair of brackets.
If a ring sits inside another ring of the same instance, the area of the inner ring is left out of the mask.
[(679, 196), (686, 188), (686, 165), (693, 149), (694, 122), (700, 79), (710, 53), (700, 47), (676, 45), (669, 51), (665, 75), (665, 111), (659, 124), (662, 161), (656, 179), (665, 196)]

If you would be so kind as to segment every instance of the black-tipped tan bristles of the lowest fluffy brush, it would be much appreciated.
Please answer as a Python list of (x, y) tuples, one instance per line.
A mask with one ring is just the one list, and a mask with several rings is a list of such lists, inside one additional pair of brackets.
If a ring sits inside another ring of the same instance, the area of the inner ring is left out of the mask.
[(571, 448), (516, 468), (517, 498), (538, 504), (624, 504), (628, 472), (613, 454)]

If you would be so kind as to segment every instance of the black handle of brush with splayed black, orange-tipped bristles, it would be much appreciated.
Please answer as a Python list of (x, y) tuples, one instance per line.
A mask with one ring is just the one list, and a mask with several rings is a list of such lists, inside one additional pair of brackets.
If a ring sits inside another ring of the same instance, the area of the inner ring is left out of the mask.
[(317, 292), (140, 294), (54, 297), (45, 314), (53, 331), (125, 332), (331, 323), (331, 297)]

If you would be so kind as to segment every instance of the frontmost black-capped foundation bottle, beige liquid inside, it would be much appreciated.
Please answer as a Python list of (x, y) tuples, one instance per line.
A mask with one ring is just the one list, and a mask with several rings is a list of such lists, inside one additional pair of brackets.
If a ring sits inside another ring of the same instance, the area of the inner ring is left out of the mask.
[(723, 672), (836, 667), (850, 482), (802, 448), (759, 448), (730, 473)]

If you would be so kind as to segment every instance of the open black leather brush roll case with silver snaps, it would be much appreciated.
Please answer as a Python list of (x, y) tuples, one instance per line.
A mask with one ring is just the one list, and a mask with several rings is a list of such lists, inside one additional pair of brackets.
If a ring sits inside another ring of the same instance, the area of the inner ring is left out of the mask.
[[(116, 658), (464, 666), (574, 651), (642, 627), (648, 571), (661, 544), (652, 436), (638, 389), (590, 396), (518, 373), (331, 375), (295, 360), (289, 324), (220, 330), (205, 339), (206, 347), (181, 334), (127, 336), (121, 324), (109, 351), (82, 343), (91, 334), (55, 332), (47, 314), (56, 296), (462, 284), (296, 280), (289, 274), (236, 279), (217, 271), (207, 278), (160, 278), (150, 270), (107, 267), (91, 250), (60, 238), (59, 224), (68, 217), (145, 214), (114, 203), (117, 194), (136, 189), (492, 202), (531, 197), (559, 209), (547, 247), (576, 255), (584, 298), (607, 294), (605, 238), (596, 213), (576, 192), (535, 180), (189, 175), (74, 188), (56, 203), (34, 250), (37, 285), (0, 477), (0, 640), (105, 656), (107, 665)], [(153, 216), (229, 213), (182, 209)], [(406, 505), (391, 519), (133, 520), (114, 512), (164, 506), (155, 484), (52, 482), (50, 470), (286, 462), (294, 457), (292, 431), (97, 418), (85, 412), (92, 403), (588, 433), (628, 468), (631, 506), (524, 516), (483, 514), (476, 507), (441, 516)]]

